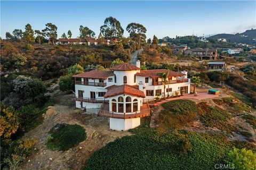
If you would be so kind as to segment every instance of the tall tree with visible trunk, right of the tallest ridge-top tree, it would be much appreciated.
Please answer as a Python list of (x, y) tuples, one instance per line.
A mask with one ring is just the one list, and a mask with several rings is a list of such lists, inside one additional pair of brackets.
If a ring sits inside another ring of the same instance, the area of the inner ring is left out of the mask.
[(138, 42), (138, 49), (140, 49), (141, 43), (146, 43), (147, 29), (139, 23), (129, 23), (126, 27), (126, 31), (130, 33), (130, 37), (135, 42)]

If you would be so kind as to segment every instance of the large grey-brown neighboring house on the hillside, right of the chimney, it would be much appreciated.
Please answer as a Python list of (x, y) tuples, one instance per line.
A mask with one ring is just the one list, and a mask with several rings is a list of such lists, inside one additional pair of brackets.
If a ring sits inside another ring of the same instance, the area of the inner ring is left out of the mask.
[(200, 60), (217, 60), (218, 58), (218, 51), (217, 49), (203, 49), (203, 48), (193, 48), (187, 49), (184, 52), (185, 55), (193, 55), (198, 57)]

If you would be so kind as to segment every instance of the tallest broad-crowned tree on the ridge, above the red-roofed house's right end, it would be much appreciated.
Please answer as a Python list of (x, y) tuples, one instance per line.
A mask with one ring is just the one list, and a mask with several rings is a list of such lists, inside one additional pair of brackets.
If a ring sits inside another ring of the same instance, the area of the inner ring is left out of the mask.
[(100, 27), (100, 33), (107, 39), (121, 38), (124, 29), (121, 27), (120, 22), (109, 16), (105, 19), (104, 24)]

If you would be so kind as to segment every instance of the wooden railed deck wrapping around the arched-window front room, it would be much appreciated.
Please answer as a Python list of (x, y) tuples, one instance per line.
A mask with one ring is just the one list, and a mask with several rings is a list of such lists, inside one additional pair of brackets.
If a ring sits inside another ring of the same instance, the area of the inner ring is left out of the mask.
[(128, 119), (128, 118), (138, 118), (138, 117), (146, 117), (150, 116), (150, 108), (147, 103), (143, 103), (143, 105), (140, 107), (140, 111), (133, 112), (133, 113), (115, 113), (115, 112), (109, 112), (109, 103), (103, 103), (100, 107), (99, 116), (101, 117), (110, 117), (110, 118), (122, 118), (122, 119)]

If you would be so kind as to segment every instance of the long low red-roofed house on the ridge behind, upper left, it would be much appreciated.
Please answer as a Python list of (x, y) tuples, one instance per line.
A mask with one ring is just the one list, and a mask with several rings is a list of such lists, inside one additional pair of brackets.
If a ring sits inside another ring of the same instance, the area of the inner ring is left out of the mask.
[(97, 38), (59, 38), (59, 45), (78, 45), (78, 44), (87, 44), (87, 45), (97, 45), (99, 39)]

